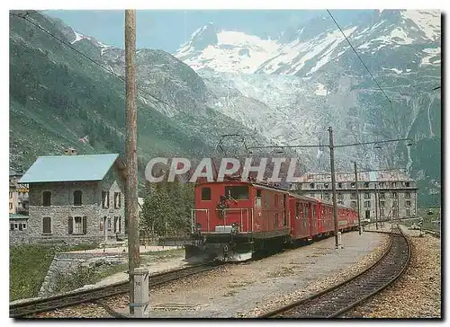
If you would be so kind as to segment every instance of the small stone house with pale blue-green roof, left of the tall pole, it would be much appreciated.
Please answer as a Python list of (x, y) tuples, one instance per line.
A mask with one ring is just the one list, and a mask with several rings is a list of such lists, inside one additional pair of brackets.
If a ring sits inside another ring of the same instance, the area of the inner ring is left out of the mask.
[(124, 237), (124, 164), (119, 155), (41, 156), (29, 184), (31, 243), (91, 243)]

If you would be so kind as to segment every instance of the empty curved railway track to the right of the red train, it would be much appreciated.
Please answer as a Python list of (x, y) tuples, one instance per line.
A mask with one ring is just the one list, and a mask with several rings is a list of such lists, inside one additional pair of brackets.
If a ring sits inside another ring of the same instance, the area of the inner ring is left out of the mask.
[[(391, 234), (390, 232), (377, 232)], [(286, 305), (260, 318), (333, 318), (346, 313), (389, 286), (410, 262), (410, 243), (400, 229), (392, 234), (388, 251), (371, 267), (354, 278)]]

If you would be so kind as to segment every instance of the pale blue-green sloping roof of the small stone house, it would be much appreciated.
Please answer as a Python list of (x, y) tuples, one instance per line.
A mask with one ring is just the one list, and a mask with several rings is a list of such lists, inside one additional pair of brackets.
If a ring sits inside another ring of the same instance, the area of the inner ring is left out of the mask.
[(40, 156), (19, 183), (101, 181), (118, 157), (118, 154)]

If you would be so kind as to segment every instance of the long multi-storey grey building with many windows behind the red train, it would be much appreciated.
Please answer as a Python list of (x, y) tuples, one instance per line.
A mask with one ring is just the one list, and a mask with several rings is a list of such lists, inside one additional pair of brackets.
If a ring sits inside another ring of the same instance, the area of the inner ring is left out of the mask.
[[(331, 175), (309, 174), (293, 185), (304, 196), (332, 201)], [(403, 172), (358, 172), (360, 215), (363, 219), (380, 220), (415, 217), (417, 209), (416, 182)], [(357, 208), (354, 173), (336, 173), (338, 204)]]

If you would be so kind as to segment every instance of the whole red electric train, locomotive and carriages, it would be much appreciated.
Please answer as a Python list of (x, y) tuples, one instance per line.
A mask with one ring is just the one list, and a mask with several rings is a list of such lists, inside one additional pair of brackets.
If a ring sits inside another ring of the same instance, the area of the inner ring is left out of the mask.
[[(334, 233), (332, 204), (246, 181), (195, 186), (188, 261), (247, 261), (255, 252)], [(339, 231), (357, 228), (357, 212), (338, 206)]]

